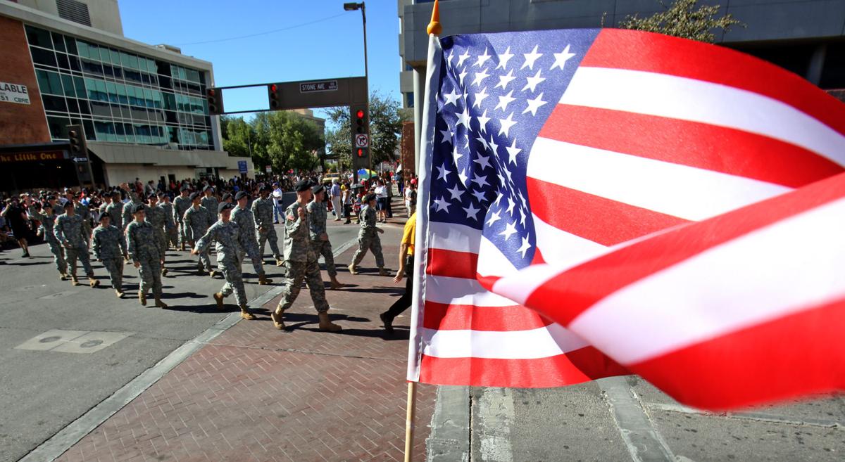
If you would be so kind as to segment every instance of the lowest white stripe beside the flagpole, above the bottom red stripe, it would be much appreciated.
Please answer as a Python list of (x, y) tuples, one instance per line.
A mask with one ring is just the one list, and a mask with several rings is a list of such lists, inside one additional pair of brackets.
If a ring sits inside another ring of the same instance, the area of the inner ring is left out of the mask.
[(580, 336), (552, 324), (531, 330), (423, 329), (423, 354), (431, 357), (535, 359), (589, 346)]

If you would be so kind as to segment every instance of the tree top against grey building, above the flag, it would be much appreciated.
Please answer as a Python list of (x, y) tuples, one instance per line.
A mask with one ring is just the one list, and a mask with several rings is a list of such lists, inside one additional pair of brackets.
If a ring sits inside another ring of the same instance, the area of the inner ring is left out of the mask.
[(716, 40), (713, 30), (722, 29), (728, 32), (735, 24), (745, 27), (745, 24), (733, 18), (730, 13), (717, 17), (719, 5), (701, 5), (696, 9), (698, 0), (675, 0), (669, 6), (662, 0), (658, 1), (666, 8), (665, 11), (654, 13), (647, 18), (639, 18), (636, 14), (627, 16), (619, 23), (619, 28), (658, 32), (713, 43)]

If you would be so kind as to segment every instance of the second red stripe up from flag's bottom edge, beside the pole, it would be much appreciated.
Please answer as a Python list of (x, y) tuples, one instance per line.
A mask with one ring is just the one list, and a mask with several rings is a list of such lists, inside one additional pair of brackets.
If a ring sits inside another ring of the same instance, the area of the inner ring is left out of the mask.
[(426, 301), (423, 327), (437, 330), (531, 330), (552, 324), (537, 311), (521, 305), (476, 306)]

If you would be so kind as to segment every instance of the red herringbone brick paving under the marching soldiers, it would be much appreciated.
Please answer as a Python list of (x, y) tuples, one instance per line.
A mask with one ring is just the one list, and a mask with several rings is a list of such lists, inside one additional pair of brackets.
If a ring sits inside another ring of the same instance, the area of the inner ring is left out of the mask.
[[(398, 225), (382, 234), (394, 272), (400, 237)], [(409, 313), (390, 339), (378, 314), (404, 284), (374, 276), (372, 255), (362, 274), (350, 275), (353, 251), (336, 259), (338, 278), (352, 285), (327, 291), (341, 334), (316, 329), (307, 289), (286, 313), (288, 330), (275, 330), (275, 299), (259, 320), (226, 330), (57, 460), (401, 460)], [(415, 459), (423, 460), (436, 388), (417, 390)]]

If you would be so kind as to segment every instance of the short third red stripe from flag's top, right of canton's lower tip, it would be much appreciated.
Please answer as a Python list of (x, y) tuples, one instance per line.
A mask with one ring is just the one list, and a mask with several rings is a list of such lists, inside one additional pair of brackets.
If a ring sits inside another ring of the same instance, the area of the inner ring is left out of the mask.
[(603, 245), (619, 244), (655, 231), (689, 223), (646, 208), (527, 177), (532, 212), (567, 233)]

